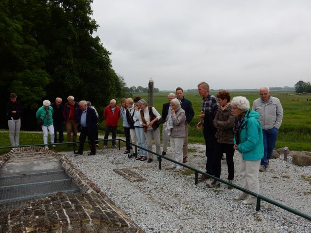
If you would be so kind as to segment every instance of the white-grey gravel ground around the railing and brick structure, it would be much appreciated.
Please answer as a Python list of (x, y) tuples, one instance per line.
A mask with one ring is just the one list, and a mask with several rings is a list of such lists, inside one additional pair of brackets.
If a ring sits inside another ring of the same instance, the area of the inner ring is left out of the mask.
[[(205, 145), (190, 144), (189, 149), (187, 165), (205, 171)], [(163, 160), (159, 170), (157, 159), (152, 163), (128, 159), (124, 150), (99, 149), (95, 156), (87, 156), (89, 151), (82, 156), (63, 153), (146, 233), (311, 232), (311, 221), (305, 218), (265, 201), (257, 212), (256, 205), (233, 200), (239, 190), (229, 190), (225, 184), (207, 188), (210, 181), (195, 185), (194, 174), (186, 174), (185, 169), (173, 172), (167, 169), (171, 163)], [(234, 161), (239, 185), (238, 156), (235, 154)], [(147, 181), (131, 183), (116, 174), (115, 168), (131, 168)], [(295, 166), (291, 157), (287, 162), (282, 156), (273, 159), (267, 171), (259, 173), (260, 194), (310, 216), (311, 184), (303, 176), (311, 177), (310, 166)], [(222, 160), (221, 178), (226, 177)]]

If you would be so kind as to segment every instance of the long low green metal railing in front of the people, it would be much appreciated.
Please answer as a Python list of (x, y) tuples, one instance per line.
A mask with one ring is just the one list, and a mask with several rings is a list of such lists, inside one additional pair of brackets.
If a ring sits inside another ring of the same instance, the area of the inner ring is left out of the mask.
[[(121, 141), (124, 142), (124, 143), (127, 143), (125, 140), (123, 140), (123, 139), (121, 139), (121, 138), (116, 138), (115, 140), (118, 141), (118, 149), (119, 149), (119, 150), (121, 149), (121, 146), (120, 146)], [(104, 142), (104, 141), (112, 141), (112, 139), (96, 140), (96, 142)], [(89, 142), (89, 141), (86, 141), (86, 142)], [(73, 144), (73, 152), (75, 152), (76, 144), (78, 144), (78, 143), (79, 143), (79, 142), (62, 142), (62, 143), (53, 143), (53, 144), (55, 144), (55, 145)], [(17, 146), (17, 147), (0, 147), (0, 149), (22, 148), (22, 147), (35, 147), (35, 146), (52, 146), (53, 144), (35, 144), (35, 145), (23, 145), (23, 146)], [(244, 189), (244, 188), (242, 188), (242, 187), (240, 187), (240, 186), (238, 186), (238, 185), (236, 185), (236, 184), (228, 183), (228, 182), (226, 182), (225, 180), (222, 180), (222, 179), (220, 179), (220, 178), (214, 177), (214, 176), (212, 176), (212, 175), (210, 175), (210, 174), (208, 174), (208, 173), (205, 173), (205, 172), (203, 172), (203, 171), (200, 171), (200, 170), (198, 170), (198, 169), (196, 169), (196, 168), (194, 168), (194, 167), (187, 166), (187, 165), (185, 165), (185, 164), (183, 164), (183, 163), (179, 163), (179, 162), (177, 162), (177, 161), (175, 161), (175, 160), (173, 160), (173, 159), (170, 159), (169, 157), (166, 157), (166, 156), (157, 154), (157, 153), (155, 153), (155, 152), (152, 151), (152, 150), (148, 150), (148, 149), (142, 148), (142, 147), (140, 147), (140, 146), (138, 146), (138, 145), (136, 145), (136, 144), (133, 144), (133, 143), (130, 143), (130, 144), (131, 144), (131, 146), (134, 146), (134, 147), (135, 147), (135, 157), (137, 157), (137, 150), (138, 150), (138, 148), (139, 148), (140, 150), (146, 150), (147, 152), (150, 152), (150, 153), (153, 153), (154, 155), (156, 155), (156, 156), (157, 156), (157, 159), (158, 159), (158, 167), (159, 167), (160, 170), (161, 170), (161, 165), (162, 165), (161, 163), (162, 163), (162, 158), (163, 158), (163, 159), (165, 159), (165, 160), (168, 160), (168, 161), (170, 161), (170, 162), (173, 162), (173, 163), (175, 163), (175, 164), (178, 164), (178, 165), (180, 165), (180, 166), (186, 167), (186, 168), (188, 168), (188, 169), (194, 171), (194, 183), (195, 183), (195, 184), (198, 184), (198, 174), (202, 174), (202, 175), (206, 175), (207, 177), (209, 177), (209, 178), (211, 178), (211, 179), (215, 179), (215, 180), (217, 180), (217, 181), (219, 181), (219, 182), (221, 182), (221, 183), (224, 183), (224, 184), (226, 184), (226, 185), (228, 185), (228, 186), (232, 186), (232, 187), (234, 187), (235, 189), (239, 189), (239, 190), (241, 190), (241, 191), (244, 192), (244, 193), (247, 193), (247, 194), (249, 194), (249, 195), (252, 195), (252, 196), (256, 197), (256, 198), (257, 198), (257, 202), (256, 202), (256, 211), (259, 211), (259, 210), (260, 210), (260, 203), (261, 203), (261, 200), (264, 200), (264, 201), (266, 201), (266, 202), (268, 202), (268, 203), (270, 203), (270, 204), (273, 204), (273, 205), (275, 205), (275, 206), (277, 206), (277, 207), (279, 207), (279, 208), (281, 208), (281, 209), (283, 209), (283, 210), (286, 210), (286, 211), (291, 212), (291, 213), (293, 213), (293, 214), (295, 214), (295, 215), (297, 215), (297, 216), (301, 216), (301, 217), (306, 218), (306, 219), (308, 219), (309, 221), (311, 221), (311, 216), (309, 216), (309, 215), (307, 215), (307, 214), (305, 214), (305, 213), (302, 213), (302, 212), (297, 211), (297, 210), (295, 210), (295, 209), (293, 209), (293, 208), (290, 208), (290, 207), (288, 207), (288, 206), (286, 206), (286, 205), (283, 205), (283, 204), (281, 204), (281, 203), (278, 203), (278, 202), (276, 202), (276, 201), (274, 201), (274, 200), (268, 199), (268, 198), (266, 198), (266, 197), (264, 197), (264, 196), (261, 196), (261, 195), (259, 195), (259, 194), (257, 194), (257, 193), (254, 193), (254, 192), (252, 192), (252, 191), (249, 191), (249, 190), (247, 190), (247, 189)]]

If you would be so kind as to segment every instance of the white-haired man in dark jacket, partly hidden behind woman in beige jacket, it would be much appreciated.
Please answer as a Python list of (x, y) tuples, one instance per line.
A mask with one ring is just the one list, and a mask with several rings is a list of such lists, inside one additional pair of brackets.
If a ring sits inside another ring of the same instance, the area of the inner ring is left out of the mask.
[(170, 140), (170, 135), (168, 134), (169, 131), (167, 131), (166, 126), (168, 123), (169, 118), (171, 117), (172, 111), (171, 111), (171, 100), (175, 99), (175, 94), (170, 93), (168, 95), (169, 102), (164, 103), (162, 107), (162, 119), (165, 120), (163, 123), (163, 128), (162, 128), (162, 143), (163, 143), (163, 151), (162, 155), (166, 155), (167, 152), (167, 146), (169, 144)]

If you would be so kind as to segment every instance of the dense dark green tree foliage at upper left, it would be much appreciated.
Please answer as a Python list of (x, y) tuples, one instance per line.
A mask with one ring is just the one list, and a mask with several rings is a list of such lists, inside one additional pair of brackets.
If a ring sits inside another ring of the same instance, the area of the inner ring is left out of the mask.
[[(125, 95), (124, 80), (112, 69), (111, 53), (98, 36), (92, 36), (98, 25), (90, 17), (91, 2), (0, 1), (2, 100), (15, 92), (29, 111), (55, 97), (66, 101), (72, 95), (104, 106)], [(4, 111), (0, 110), (0, 116)], [(4, 126), (3, 118), (0, 125)]]

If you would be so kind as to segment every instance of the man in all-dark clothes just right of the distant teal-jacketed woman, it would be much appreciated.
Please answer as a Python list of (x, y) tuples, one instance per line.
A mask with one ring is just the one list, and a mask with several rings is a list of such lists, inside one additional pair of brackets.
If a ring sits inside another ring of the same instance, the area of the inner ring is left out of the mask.
[[(53, 127), (54, 127), (54, 143), (57, 142), (57, 131), (59, 134), (59, 142), (64, 141), (64, 117), (63, 117), (63, 111), (64, 111), (64, 105), (62, 105), (62, 99), (59, 97), (56, 97), (55, 102), (51, 104), (53, 108)], [(53, 148), (56, 147), (56, 145), (52, 145)]]

